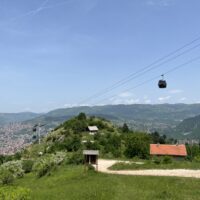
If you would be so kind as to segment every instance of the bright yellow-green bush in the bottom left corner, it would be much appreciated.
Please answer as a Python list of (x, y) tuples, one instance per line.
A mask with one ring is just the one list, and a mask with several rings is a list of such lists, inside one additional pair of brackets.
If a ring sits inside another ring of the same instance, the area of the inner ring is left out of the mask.
[(30, 190), (22, 187), (0, 188), (0, 199), (2, 200), (30, 200)]

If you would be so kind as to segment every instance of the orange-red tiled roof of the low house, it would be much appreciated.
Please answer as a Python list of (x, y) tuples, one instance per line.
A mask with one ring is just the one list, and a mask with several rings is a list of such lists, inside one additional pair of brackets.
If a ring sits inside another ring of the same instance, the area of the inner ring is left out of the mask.
[(150, 144), (150, 155), (187, 156), (187, 151), (184, 144)]

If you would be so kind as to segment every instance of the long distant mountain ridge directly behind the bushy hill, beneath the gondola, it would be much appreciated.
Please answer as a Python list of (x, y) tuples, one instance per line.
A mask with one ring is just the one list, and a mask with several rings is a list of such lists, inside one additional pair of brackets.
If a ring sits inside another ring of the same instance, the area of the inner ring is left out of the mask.
[(106, 105), (94, 107), (74, 107), (53, 110), (45, 115), (28, 120), (26, 123), (45, 123), (49, 127), (84, 112), (113, 121), (124, 122), (135, 130), (163, 131), (175, 128), (184, 119), (200, 115), (200, 104), (159, 104), (159, 105)]

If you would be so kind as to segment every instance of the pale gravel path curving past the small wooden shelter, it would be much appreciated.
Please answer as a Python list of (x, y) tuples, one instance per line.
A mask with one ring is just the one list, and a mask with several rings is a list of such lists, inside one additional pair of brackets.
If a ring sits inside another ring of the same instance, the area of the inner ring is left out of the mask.
[[(98, 170), (108, 174), (121, 174), (121, 175), (135, 175), (135, 176), (177, 176), (177, 177), (191, 177), (200, 178), (200, 170), (187, 170), (187, 169), (150, 169), (150, 170), (108, 170), (109, 167), (119, 161), (117, 160), (99, 160)], [(120, 161), (121, 162), (121, 161)]]

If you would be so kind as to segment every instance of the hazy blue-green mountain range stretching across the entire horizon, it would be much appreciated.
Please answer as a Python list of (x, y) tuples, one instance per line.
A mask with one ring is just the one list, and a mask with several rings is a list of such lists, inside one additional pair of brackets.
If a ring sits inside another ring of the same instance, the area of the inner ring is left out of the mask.
[[(158, 131), (175, 138), (200, 138), (200, 104), (133, 104), (62, 108), (46, 114), (0, 114), (0, 125), (21, 122), (29, 127), (45, 124), (44, 132), (84, 112), (106, 118), (116, 125), (127, 123), (133, 130)], [(31, 134), (31, 130), (22, 130)], [(18, 130), (17, 134), (20, 134)]]

